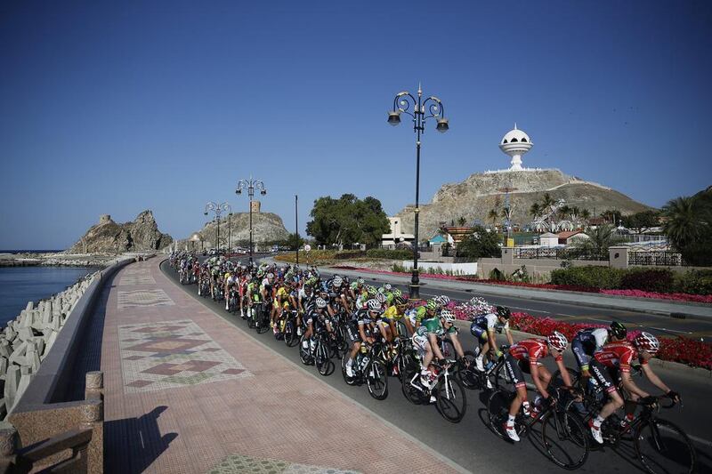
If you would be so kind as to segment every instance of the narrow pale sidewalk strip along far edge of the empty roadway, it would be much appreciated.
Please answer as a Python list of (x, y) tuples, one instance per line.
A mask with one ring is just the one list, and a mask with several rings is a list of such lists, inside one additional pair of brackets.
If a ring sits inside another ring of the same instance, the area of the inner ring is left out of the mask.
[[(279, 262), (278, 262), (279, 263)], [(322, 267), (320, 270), (326, 273), (338, 273), (349, 277), (363, 276), (364, 274), (374, 275), (384, 281), (408, 285), (409, 276), (388, 275), (378, 272), (369, 272), (368, 269), (348, 270)], [(473, 282), (457, 280), (443, 280), (436, 278), (421, 278), (421, 285), (429, 288), (443, 288), (449, 290), (469, 290), (470, 292), (491, 294), (496, 296), (508, 296), (523, 298), (527, 300), (554, 301), (574, 304), (584, 304), (607, 309), (624, 309), (640, 311), (643, 313), (661, 315), (684, 315), (690, 317), (712, 318), (712, 305), (702, 303), (685, 303), (684, 301), (654, 300), (651, 298), (628, 298), (622, 296), (566, 292), (558, 290), (538, 290), (534, 288), (523, 288), (513, 285), (485, 285)]]

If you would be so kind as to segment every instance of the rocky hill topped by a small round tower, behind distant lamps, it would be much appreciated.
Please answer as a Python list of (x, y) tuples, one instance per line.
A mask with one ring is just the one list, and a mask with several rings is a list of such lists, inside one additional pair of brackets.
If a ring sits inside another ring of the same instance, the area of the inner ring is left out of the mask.
[[(273, 242), (287, 238), (289, 232), (284, 227), (284, 222), (279, 215), (275, 213), (253, 213), (252, 214), (252, 229), (255, 243)], [(203, 240), (204, 248), (212, 248), (215, 245), (217, 237), (217, 224), (215, 221), (210, 221), (203, 229), (198, 230), (198, 236)], [(250, 239), (250, 214), (249, 213), (233, 213), (230, 217), (230, 227), (228, 227), (228, 218), (223, 215), (220, 219), (220, 242), (223, 246), (228, 245), (228, 237), (232, 241), (232, 245), (238, 245), (239, 242), (247, 242)], [(189, 237), (190, 238), (190, 237)], [(178, 241), (178, 248), (191, 248), (188, 239)]]

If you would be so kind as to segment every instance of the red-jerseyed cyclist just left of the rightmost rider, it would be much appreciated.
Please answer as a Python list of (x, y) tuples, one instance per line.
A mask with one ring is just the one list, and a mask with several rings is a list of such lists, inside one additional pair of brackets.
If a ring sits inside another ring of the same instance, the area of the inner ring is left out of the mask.
[(563, 365), (562, 356), (568, 345), (569, 340), (566, 339), (566, 336), (554, 331), (546, 338), (532, 337), (519, 341), (509, 348), (509, 352), (505, 356), (505, 370), (514, 384), (516, 397), (509, 406), (509, 418), (505, 422), (504, 428), (506, 435), (513, 441), (519, 441), (517, 431), (514, 429), (514, 417), (519, 412), (520, 407), (523, 406), (525, 415), (529, 416), (531, 414), (530, 405), (527, 401), (527, 387), (522, 371), (531, 374), (534, 385), (536, 385), (541, 397), (544, 398), (543, 403), (546, 405), (554, 403), (553, 395), (546, 390), (551, 381), (551, 373), (546, 366), (542, 366), (539, 360), (551, 355), (556, 361), (556, 366), (559, 367), (563, 382), (570, 386), (569, 371)]

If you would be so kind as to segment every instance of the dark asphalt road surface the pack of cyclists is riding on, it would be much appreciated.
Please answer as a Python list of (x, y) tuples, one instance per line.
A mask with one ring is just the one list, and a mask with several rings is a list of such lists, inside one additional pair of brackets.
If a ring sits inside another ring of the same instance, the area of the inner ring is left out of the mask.
[[(177, 275), (170, 269), (167, 262), (161, 268), (176, 285), (179, 285)], [(293, 362), (301, 370), (312, 374), (315, 383), (327, 383), (386, 422), (392, 423), (447, 456), (453, 462), (457, 462), (465, 470), (477, 470), (477, 467), (482, 466), (483, 462), (491, 466), (493, 472), (559, 470), (538, 452), (535, 442), (524, 439), (517, 445), (511, 445), (490, 431), (485, 423), (484, 402), (486, 398), (484, 398), (484, 392), (467, 391), (467, 413), (463, 421), (457, 424), (446, 422), (434, 406), (410, 404), (401, 393), (400, 382), (394, 377), (389, 380), (388, 398), (377, 401), (368, 395), (365, 386), (346, 385), (338, 371), (328, 377), (321, 377), (313, 366), (303, 366), (296, 348), (288, 348), (284, 342), (275, 340), (269, 332), (257, 334), (255, 331), (249, 330), (241, 318), (233, 317), (224, 310), (224, 303), (198, 297), (195, 285), (182, 285), (182, 288), (206, 307), (214, 309), (214, 313), (218, 317), (223, 317), (256, 341), (262, 342), (275, 353)], [(525, 305), (529, 305), (530, 301), (511, 301), (511, 303), (513, 306), (524, 308)], [(467, 332), (461, 334), (465, 347), (473, 347), (475, 343), (473, 337)], [(566, 358), (566, 364), (575, 366), (572, 357)], [(712, 382), (709, 379), (691, 377), (665, 368), (656, 367), (656, 373), (684, 397), (683, 409), (667, 410), (663, 416), (678, 423), (688, 435), (694, 437), (698, 447), (700, 472), (712, 471), (712, 436), (709, 434), (709, 426), (712, 426), (712, 411), (707, 405), (708, 400), (712, 398)], [(644, 387), (645, 383), (642, 382), (642, 384)], [(319, 407), (315, 406), (314, 409), (318, 410)], [(277, 434), (275, 436), (277, 437)], [(352, 433), (352, 436), (358, 436), (358, 433)], [(344, 438), (344, 443), (347, 442), (347, 438)], [(580, 469), (581, 472), (601, 472), (603, 470), (607, 472), (643, 472), (642, 468), (627, 454), (615, 452), (611, 448), (592, 452), (587, 463)]]

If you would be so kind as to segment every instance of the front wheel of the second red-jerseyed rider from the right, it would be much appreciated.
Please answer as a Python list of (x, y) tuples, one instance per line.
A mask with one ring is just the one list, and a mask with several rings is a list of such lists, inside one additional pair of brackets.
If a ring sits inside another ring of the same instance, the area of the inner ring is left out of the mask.
[(549, 458), (563, 469), (575, 470), (588, 458), (588, 433), (578, 418), (570, 413), (550, 411), (539, 420), (541, 440)]

